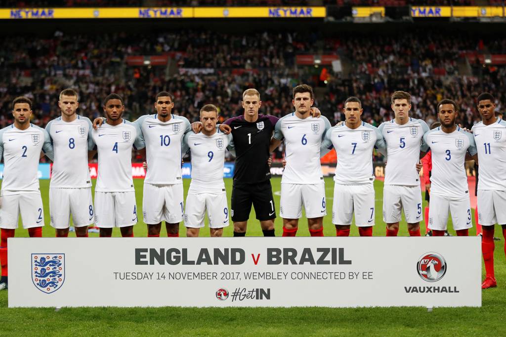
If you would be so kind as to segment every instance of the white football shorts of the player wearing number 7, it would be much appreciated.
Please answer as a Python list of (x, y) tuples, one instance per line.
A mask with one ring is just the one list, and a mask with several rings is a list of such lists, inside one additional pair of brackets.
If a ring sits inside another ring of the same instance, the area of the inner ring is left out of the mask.
[(374, 226), (374, 186), (334, 184), (332, 223), (351, 225), (355, 213), (357, 227)]

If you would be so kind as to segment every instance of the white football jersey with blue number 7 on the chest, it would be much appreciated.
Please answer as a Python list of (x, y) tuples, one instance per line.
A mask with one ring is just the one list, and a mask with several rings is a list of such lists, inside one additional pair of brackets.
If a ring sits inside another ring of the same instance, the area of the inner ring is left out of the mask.
[(385, 140), (376, 127), (362, 122), (357, 129), (350, 129), (346, 123), (330, 128), (325, 133), (323, 146), (335, 148), (338, 164), (334, 181), (342, 185), (362, 185), (374, 182), (372, 151), (385, 150)]

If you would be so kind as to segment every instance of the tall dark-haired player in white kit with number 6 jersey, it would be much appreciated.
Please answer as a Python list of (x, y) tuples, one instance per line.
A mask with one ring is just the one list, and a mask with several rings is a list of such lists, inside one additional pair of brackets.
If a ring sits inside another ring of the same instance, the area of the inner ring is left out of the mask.
[(270, 151), (284, 138), (286, 166), (281, 179), (279, 214), (283, 218), (282, 236), (296, 236), (302, 206), (306, 210), (309, 233), (323, 236), (323, 217), (327, 214), (325, 181), (321, 173), (320, 147), (330, 122), (325, 116), (310, 115), (314, 103), (308, 85), (293, 88), (295, 112), (279, 119), (274, 129)]

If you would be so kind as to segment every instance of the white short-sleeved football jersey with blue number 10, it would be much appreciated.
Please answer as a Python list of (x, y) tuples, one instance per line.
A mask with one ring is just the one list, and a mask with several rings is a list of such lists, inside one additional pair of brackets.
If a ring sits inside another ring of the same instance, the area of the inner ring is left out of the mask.
[(158, 114), (144, 115), (134, 123), (141, 129), (146, 145), (148, 170), (144, 180), (147, 184), (182, 184), (181, 146), (183, 136), (191, 131), (190, 122), (183, 116), (171, 115), (162, 122)]

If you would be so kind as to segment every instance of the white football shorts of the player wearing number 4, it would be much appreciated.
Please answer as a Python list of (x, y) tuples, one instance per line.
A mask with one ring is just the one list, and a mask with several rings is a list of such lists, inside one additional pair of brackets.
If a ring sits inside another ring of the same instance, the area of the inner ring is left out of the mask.
[(128, 227), (137, 223), (135, 192), (95, 192), (95, 224), (99, 228)]

